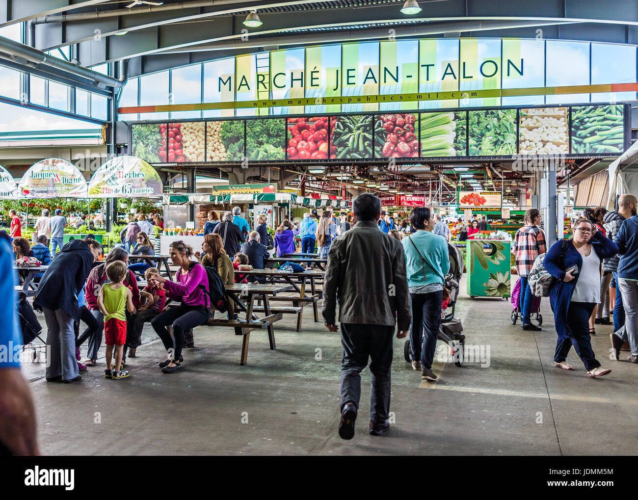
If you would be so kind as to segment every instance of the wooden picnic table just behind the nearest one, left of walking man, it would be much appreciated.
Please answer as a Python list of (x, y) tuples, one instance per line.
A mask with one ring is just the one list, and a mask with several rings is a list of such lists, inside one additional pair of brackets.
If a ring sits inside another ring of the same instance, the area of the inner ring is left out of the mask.
[[(295, 292), (297, 292), (296, 296), (281, 295), (278, 297), (272, 297), (271, 300), (292, 302), (293, 307), (281, 309), (281, 312), (297, 314), (297, 332), (301, 329), (301, 317), (304, 305), (313, 305), (315, 323), (319, 321), (317, 301), (322, 298), (322, 291), (317, 291), (315, 280), (323, 278), (324, 274), (325, 271), (320, 269), (311, 269), (304, 272), (286, 272), (281, 269), (253, 269), (246, 272), (246, 276), (265, 277), (266, 279), (283, 279), (286, 283), (292, 286)], [(310, 282), (310, 295), (306, 294), (306, 283), (308, 281)], [(301, 305), (301, 307), (299, 307), (299, 305)]]

